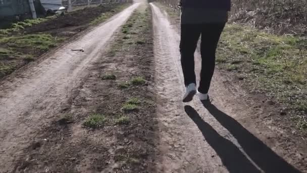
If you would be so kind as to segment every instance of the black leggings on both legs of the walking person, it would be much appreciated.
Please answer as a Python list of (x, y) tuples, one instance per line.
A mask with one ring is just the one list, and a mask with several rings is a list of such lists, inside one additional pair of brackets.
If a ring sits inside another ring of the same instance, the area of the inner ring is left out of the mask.
[(181, 25), (181, 66), (184, 84), (196, 83), (194, 52), (201, 34), (201, 72), (198, 91), (207, 94), (215, 68), (215, 53), (225, 23), (182, 24)]

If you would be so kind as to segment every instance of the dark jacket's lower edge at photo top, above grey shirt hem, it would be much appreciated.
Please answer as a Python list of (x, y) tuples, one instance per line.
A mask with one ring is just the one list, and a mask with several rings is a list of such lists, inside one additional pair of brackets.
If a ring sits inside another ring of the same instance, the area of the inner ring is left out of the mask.
[(231, 0), (181, 0), (182, 8), (219, 9), (230, 11)]

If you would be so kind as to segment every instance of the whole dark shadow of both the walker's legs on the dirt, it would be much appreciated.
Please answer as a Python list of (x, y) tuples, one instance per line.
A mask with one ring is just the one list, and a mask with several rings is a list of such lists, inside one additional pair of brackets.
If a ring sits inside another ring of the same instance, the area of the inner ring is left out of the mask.
[[(248, 157), (264, 172), (296, 173), (300, 172), (283, 158), (278, 156), (261, 140), (247, 131), (239, 122), (219, 110), (211, 103), (203, 106), (213, 115), (238, 141)], [(191, 106), (184, 107), (185, 112), (195, 122), (208, 144), (220, 156), (229, 172), (261, 172), (240, 150), (228, 139), (222, 137), (215, 129), (205, 122)]]

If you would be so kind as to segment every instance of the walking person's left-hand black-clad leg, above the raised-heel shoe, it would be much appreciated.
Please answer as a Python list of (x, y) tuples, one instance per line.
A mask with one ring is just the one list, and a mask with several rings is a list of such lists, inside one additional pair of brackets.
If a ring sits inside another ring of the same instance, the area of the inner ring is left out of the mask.
[(181, 25), (180, 54), (185, 86), (188, 86), (190, 83), (196, 84), (194, 72), (194, 52), (197, 47), (200, 31), (201, 25)]

